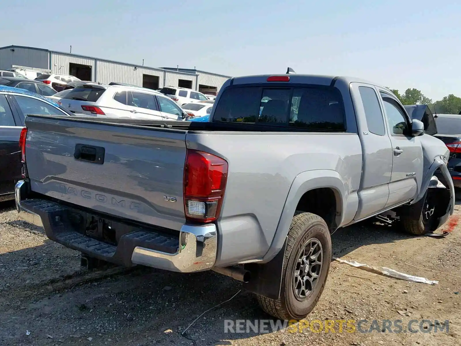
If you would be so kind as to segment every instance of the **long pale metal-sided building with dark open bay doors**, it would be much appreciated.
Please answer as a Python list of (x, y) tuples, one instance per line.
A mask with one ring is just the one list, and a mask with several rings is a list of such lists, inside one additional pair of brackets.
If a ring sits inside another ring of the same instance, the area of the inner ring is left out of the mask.
[(195, 69), (154, 68), (42, 48), (0, 47), (0, 69), (12, 66), (49, 70), (102, 84), (118, 82), (150, 89), (178, 86), (217, 92), (231, 78)]

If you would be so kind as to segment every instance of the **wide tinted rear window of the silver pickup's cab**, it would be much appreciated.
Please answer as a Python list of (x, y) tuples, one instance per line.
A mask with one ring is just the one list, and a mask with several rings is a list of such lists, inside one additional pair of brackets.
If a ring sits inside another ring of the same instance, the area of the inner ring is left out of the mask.
[(345, 131), (339, 90), (309, 88), (235, 87), (223, 92), (213, 121), (290, 126), (319, 131)]

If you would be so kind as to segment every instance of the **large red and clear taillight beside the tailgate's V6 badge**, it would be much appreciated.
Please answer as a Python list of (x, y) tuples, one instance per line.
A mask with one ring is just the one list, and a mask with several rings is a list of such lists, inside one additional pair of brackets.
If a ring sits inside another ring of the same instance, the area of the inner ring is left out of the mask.
[(218, 219), (227, 168), (227, 162), (218, 156), (187, 149), (183, 178), (187, 220), (212, 222)]

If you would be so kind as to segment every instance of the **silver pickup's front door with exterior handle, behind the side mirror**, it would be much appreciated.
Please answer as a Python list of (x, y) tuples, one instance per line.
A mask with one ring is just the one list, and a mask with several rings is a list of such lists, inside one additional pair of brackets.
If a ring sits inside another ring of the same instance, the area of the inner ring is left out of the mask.
[(411, 136), (411, 120), (394, 95), (379, 90), (392, 143), (392, 174), (386, 208), (413, 199), (422, 179), (423, 155), (418, 137)]

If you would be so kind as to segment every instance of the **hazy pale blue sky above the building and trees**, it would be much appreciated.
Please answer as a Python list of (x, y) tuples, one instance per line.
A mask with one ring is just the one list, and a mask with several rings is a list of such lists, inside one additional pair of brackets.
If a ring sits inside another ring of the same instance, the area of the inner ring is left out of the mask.
[(0, 1), (0, 46), (229, 76), (290, 66), (461, 96), (460, 0)]

